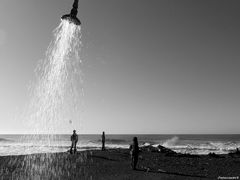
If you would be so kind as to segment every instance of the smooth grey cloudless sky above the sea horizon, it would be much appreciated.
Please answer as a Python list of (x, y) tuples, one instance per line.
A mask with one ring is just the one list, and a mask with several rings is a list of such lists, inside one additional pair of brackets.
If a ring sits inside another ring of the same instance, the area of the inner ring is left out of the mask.
[[(18, 116), (29, 99), (29, 82), (71, 5), (0, 1), (1, 134), (27, 133)], [(77, 131), (239, 133), (239, 5), (80, 0), (85, 105)]]

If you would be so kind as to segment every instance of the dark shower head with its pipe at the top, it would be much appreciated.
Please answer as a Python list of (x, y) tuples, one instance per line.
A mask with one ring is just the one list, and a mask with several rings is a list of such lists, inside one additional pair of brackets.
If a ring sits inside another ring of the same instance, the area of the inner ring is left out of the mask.
[(81, 25), (81, 21), (77, 18), (78, 13), (78, 0), (74, 0), (72, 10), (70, 14), (65, 14), (61, 17), (62, 20), (67, 20), (70, 23), (74, 23), (77, 26)]

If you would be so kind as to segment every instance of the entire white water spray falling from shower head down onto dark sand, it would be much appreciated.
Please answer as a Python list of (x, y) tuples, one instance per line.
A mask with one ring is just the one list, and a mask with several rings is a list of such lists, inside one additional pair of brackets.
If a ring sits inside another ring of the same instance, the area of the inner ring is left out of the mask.
[[(56, 134), (71, 133), (69, 120), (71, 125), (80, 123), (79, 108), (83, 96), (81, 47), (81, 27), (62, 20), (54, 30), (54, 40), (46, 57), (37, 65), (37, 80), (30, 86), (31, 102), (25, 118), (28, 118), (26, 122), (33, 135), (26, 136), (31, 144), (26, 153), (31, 154), (34, 148), (41, 152), (41, 148), (57, 146)], [(54, 158), (56, 162), (56, 156)], [(48, 177), (54, 177), (61, 169), (54, 169), (57, 166), (51, 164), (53, 160), (51, 154), (29, 155), (24, 158), (22, 169), (28, 173), (34, 172), (35, 168), (51, 172)]]

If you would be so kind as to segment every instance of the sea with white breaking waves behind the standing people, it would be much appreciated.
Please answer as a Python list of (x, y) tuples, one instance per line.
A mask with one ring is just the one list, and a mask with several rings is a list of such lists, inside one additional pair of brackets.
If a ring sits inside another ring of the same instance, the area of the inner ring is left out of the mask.
[[(38, 138), (36, 138), (38, 136)], [(70, 134), (54, 135), (0, 135), (0, 156), (35, 153), (67, 152)], [(101, 134), (79, 134), (78, 151), (101, 149)], [(227, 154), (240, 147), (240, 134), (106, 134), (106, 148), (129, 148), (133, 137), (139, 146), (165, 146), (176, 152), (189, 154)]]

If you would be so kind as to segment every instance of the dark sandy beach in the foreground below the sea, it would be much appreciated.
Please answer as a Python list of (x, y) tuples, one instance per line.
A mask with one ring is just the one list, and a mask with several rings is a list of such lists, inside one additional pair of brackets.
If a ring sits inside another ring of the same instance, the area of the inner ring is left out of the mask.
[(190, 155), (144, 147), (137, 170), (128, 149), (0, 157), (1, 179), (221, 179), (240, 177), (239, 154)]

